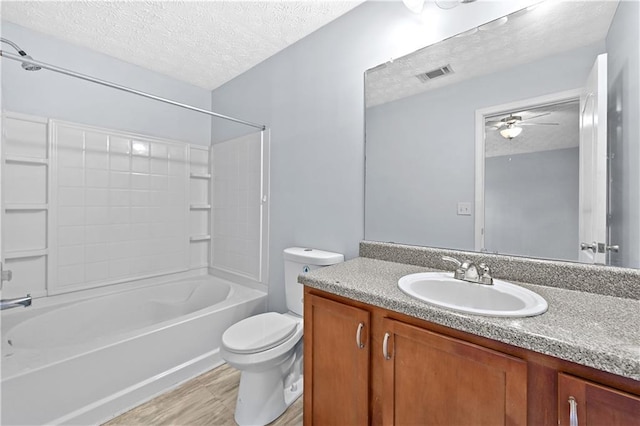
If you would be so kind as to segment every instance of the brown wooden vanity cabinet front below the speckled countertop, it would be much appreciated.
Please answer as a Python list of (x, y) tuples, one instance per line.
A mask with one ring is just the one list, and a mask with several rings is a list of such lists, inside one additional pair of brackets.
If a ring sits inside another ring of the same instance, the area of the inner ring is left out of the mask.
[(638, 381), (308, 287), (304, 301), (306, 426), (570, 426), (570, 396), (580, 426), (640, 426)]

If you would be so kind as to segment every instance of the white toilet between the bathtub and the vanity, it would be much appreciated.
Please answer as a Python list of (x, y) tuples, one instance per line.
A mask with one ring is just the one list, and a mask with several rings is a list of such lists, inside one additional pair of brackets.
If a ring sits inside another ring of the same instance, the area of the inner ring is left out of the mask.
[(222, 335), (220, 353), (242, 371), (235, 420), (240, 426), (265, 425), (302, 394), (302, 293), (298, 275), (344, 261), (322, 250), (284, 250), (285, 314), (267, 312), (246, 318)]

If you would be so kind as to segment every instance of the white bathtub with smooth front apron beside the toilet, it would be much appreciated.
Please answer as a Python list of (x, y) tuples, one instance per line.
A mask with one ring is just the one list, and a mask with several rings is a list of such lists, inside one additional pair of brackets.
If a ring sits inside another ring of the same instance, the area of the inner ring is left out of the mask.
[(200, 276), (4, 311), (1, 423), (108, 420), (221, 364), (224, 330), (265, 307), (264, 292)]

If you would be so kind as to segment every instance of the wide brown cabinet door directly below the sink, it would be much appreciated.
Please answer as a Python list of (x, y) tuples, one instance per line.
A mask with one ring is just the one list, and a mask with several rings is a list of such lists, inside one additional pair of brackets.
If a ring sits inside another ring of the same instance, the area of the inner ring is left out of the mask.
[(527, 423), (523, 360), (395, 320), (383, 323), (384, 424)]

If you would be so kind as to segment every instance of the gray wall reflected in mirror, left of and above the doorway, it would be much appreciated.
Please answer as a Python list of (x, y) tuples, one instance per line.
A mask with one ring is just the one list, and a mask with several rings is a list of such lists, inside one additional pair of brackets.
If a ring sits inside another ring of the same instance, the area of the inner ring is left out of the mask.
[(597, 43), (368, 108), (366, 239), (473, 250), (474, 218), (458, 216), (457, 203), (475, 199), (476, 109), (577, 89), (604, 50)]

